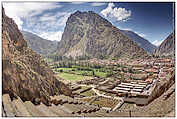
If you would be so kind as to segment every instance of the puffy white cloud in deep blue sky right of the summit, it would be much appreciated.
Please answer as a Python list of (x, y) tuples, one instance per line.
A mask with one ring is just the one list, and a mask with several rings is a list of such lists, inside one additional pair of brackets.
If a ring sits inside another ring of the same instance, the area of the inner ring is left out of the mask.
[(107, 8), (101, 11), (104, 17), (114, 18), (117, 21), (126, 21), (131, 16), (131, 11), (125, 8), (115, 7), (114, 3), (109, 3)]

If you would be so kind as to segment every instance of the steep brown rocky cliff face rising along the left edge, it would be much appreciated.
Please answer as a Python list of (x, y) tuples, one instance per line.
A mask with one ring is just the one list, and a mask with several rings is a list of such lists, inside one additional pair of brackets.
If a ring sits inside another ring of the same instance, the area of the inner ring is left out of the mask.
[(59, 80), (40, 55), (33, 52), (11, 18), (2, 9), (2, 92), (23, 100), (39, 99), (48, 105), (50, 95), (72, 92)]

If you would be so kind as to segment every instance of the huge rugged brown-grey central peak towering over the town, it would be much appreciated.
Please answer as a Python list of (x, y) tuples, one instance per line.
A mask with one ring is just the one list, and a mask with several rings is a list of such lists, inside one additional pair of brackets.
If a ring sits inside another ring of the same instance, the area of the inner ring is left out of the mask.
[(71, 14), (57, 49), (57, 54), (74, 58), (136, 58), (147, 55), (118, 28), (92, 11)]

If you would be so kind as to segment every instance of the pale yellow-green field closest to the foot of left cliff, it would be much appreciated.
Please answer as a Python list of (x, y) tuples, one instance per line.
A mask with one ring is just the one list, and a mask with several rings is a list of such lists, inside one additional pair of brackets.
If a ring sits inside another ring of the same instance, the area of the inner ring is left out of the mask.
[(69, 74), (69, 73), (59, 73), (58, 75), (61, 78), (65, 79), (65, 80), (70, 80), (70, 81), (83, 80), (83, 79), (89, 78), (88, 76)]

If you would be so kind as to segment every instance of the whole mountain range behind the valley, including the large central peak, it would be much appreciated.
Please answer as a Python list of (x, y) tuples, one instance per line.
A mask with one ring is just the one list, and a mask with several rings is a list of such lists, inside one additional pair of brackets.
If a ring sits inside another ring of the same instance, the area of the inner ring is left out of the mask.
[[(28, 46), (41, 55), (71, 57), (135, 58), (148, 54), (174, 55), (174, 33), (157, 48), (133, 31), (120, 30), (98, 14), (77, 11), (66, 23), (60, 42), (22, 31)], [(147, 54), (148, 53), (148, 54)]]

